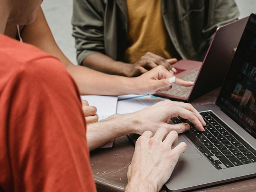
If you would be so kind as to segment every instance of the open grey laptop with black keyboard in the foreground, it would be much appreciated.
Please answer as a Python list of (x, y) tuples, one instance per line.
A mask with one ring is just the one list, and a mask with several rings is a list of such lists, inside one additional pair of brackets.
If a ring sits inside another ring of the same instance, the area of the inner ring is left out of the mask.
[[(195, 108), (207, 123), (204, 132), (186, 119), (171, 118), (170, 123), (189, 123), (190, 130), (179, 135), (187, 151), (167, 189), (180, 192), (256, 176), (255, 14), (248, 19), (216, 104)], [(135, 141), (138, 135), (130, 137)]]

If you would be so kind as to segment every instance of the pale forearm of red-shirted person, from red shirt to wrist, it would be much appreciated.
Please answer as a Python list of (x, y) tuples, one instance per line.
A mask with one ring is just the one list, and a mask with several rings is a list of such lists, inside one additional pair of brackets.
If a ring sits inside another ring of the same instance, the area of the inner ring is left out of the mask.
[(139, 123), (129, 117), (130, 114), (116, 114), (106, 120), (87, 125), (87, 143), (90, 151), (96, 149), (111, 139), (136, 133), (134, 129)]

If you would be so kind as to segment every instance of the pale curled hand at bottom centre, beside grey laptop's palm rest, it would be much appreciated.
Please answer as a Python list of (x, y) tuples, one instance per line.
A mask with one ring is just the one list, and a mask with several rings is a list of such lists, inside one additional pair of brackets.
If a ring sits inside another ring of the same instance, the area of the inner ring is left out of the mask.
[(145, 131), (136, 142), (125, 192), (160, 191), (171, 177), (178, 158), (187, 149), (184, 142), (171, 148), (177, 141), (175, 131), (168, 133), (165, 128), (159, 128), (154, 136)]

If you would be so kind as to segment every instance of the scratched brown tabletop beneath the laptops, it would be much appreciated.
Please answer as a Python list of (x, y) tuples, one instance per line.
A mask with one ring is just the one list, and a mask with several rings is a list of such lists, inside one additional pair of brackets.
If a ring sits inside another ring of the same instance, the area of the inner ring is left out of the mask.
[[(219, 88), (195, 99), (192, 105), (215, 103)], [(134, 145), (127, 136), (115, 139), (114, 148), (91, 152), (91, 169), (98, 192), (123, 192), (127, 184), (127, 171), (134, 153)], [(165, 192), (163, 188), (161, 192)], [(207, 187), (196, 192), (255, 192), (256, 178)]]

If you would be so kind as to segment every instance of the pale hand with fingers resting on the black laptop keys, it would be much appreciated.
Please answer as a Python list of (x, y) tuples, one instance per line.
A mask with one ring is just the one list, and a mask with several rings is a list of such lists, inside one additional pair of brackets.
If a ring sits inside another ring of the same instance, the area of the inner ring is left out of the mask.
[[(180, 122), (175, 125), (169, 124), (171, 117), (180, 116), (192, 122), (198, 131), (204, 131), (206, 123), (203, 117), (192, 107), (191, 104), (174, 101), (162, 101), (135, 113), (128, 114), (134, 124), (134, 133), (142, 134), (144, 131), (152, 131), (154, 134), (158, 128), (164, 127), (168, 131), (183, 133), (190, 129), (187, 122)], [(145, 118), (146, 117), (146, 118)]]

